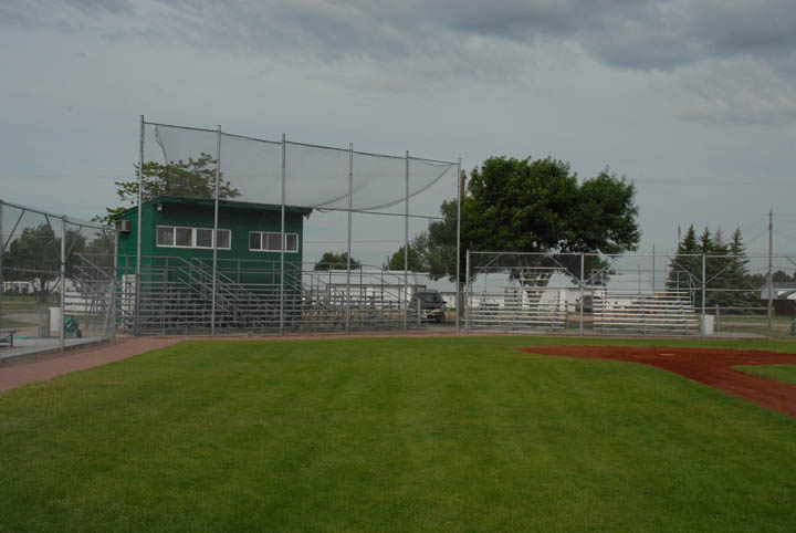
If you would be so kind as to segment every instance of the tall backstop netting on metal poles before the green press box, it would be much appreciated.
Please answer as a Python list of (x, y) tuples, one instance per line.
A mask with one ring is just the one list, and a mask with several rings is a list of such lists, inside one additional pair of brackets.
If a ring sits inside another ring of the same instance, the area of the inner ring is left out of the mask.
[[(284, 136), (263, 139), (220, 128), (143, 122), (140, 165), (144, 201), (156, 195), (211, 203), (218, 198), (216, 241), (224, 239), (226, 228), (240, 227), (237, 209), (241, 206), (232, 202), (271, 209), (270, 229), (258, 231), (252, 222), (248, 247), (275, 253), (263, 253), (268, 259), (261, 260), (232, 257), (224, 250), (219, 253), (218, 245), (213, 253), (190, 258), (157, 249), (150, 254), (121, 250), (119, 309), (125, 330), (418, 326), (410, 302), (428, 278), (409, 271), (402, 262), (399, 269), (395, 264), (390, 269), (389, 260), (426, 231), (430, 221), (440, 219), (442, 201), (455, 201), (459, 164), (408, 153), (365, 153), (350, 145), (296, 143)], [(176, 179), (176, 187), (147, 188), (148, 177), (164, 169), (205, 179), (195, 184)], [(296, 213), (303, 217), (300, 229)], [(324, 264), (325, 252), (343, 255), (345, 261)]]

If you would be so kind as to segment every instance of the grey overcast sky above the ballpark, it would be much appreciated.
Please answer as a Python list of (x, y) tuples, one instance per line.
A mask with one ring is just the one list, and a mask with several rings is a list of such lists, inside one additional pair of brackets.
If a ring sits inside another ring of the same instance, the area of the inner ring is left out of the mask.
[[(643, 250), (690, 223), (765, 250), (771, 208), (796, 250), (793, 0), (0, 0), (0, 197), (52, 211), (114, 203), (144, 114), (468, 170), (610, 166), (638, 187)], [(402, 238), (359, 223), (383, 241), (366, 260)]]

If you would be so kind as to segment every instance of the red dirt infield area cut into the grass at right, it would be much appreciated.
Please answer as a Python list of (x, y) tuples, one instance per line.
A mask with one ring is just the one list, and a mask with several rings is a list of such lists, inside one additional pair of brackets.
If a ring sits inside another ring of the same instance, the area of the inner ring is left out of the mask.
[(796, 386), (733, 370), (736, 365), (796, 365), (796, 354), (722, 348), (535, 346), (522, 352), (643, 363), (796, 417)]

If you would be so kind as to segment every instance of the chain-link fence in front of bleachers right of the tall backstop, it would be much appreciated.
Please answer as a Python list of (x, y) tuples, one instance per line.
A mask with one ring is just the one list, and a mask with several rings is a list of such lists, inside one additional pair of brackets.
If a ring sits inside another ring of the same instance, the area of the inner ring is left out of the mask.
[(465, 328), (793, 335), (789, 254), (467, 253)]

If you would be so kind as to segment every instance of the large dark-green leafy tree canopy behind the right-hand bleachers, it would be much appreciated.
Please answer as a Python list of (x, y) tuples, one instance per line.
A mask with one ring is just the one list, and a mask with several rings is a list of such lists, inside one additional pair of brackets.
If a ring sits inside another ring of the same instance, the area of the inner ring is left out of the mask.
[[(440, 211), (442, 220), (431, 222), (413, 244), (432, 276), (453, 280), (455, 200), (443, 202)], [(636, 250), (641, 237), (637, 217), (636, 187), (607, 168), (578, 184), (577, 175), (561, 160), (492, 157), (473, 169), (462, 198), (462, 279), (467, 250), (604, 254)], [(558, 257), (557, 262), (579, 273), (579, 259)], [(605, 264), (593, 257), (586, 266), (590, 272)]]

